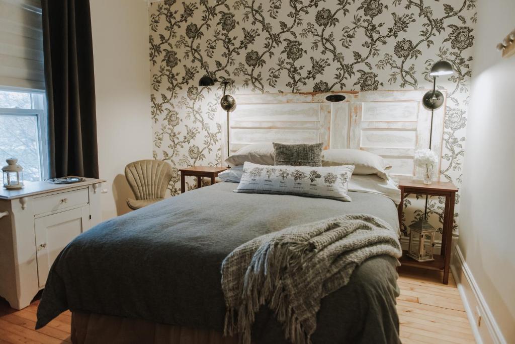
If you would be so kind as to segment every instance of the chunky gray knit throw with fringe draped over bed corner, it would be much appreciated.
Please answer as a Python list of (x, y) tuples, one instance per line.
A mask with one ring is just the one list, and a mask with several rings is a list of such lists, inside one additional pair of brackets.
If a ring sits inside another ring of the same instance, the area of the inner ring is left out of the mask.
[(367, 258), (401, 254), (396, 232), (366, 214), (292, 226), (250, 240), (222, 263), (224, 334), (239, 335), (250, 344), (255, 313), (266, 304), (283, 324), (286, 339), (310, 344), (324, 296), (347, 285)]

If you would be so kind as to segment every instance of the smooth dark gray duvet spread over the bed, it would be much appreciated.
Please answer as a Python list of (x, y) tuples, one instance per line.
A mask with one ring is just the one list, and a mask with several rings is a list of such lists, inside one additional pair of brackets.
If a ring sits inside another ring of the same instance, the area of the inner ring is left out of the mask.
[[(366, 212), (398, 230), (384, 196), (351, 192), (352, 202), (234, 193), (232, 183), (188, 191), (105, 221), (59, 254), (38, 308), (37, 328), (66, 309), (223, 331), (221, 262), (239, 245), (287, 226)], [(397, 259), (377, 256), (347, 286), (322, 299), (313, 343), (399, 340)], [(256, 343), (284, 343), (265, 306)]]

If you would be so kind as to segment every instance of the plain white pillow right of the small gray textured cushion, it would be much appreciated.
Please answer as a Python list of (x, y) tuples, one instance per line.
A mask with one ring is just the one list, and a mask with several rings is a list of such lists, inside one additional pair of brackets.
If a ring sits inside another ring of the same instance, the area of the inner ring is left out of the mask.
[(377, 154), (355, 149), (322, 151), (322, 166), (354, 165), (354, 174), (377, 174), (388, 179), (390, 163)]

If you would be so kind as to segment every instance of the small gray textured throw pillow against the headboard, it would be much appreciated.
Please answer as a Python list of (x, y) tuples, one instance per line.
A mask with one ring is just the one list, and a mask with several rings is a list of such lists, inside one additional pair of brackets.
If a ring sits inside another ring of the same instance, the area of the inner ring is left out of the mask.
[(323, 143), (283, 144), (273, 142), (274, 165), (322, 166)]

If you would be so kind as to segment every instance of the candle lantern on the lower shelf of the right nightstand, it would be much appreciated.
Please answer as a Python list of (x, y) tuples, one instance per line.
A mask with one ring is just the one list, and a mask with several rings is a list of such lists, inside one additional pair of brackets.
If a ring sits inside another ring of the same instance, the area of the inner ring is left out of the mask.
[(418, 220), (409, 225), (408, 256), (417, 261), (435, 260), (433, 250), (435, 247), (436, 228), (426, 220)]

